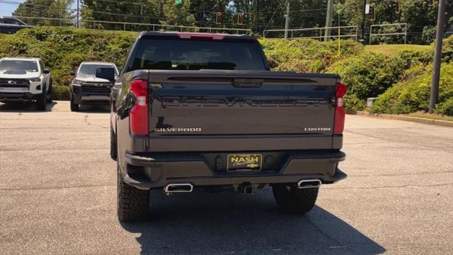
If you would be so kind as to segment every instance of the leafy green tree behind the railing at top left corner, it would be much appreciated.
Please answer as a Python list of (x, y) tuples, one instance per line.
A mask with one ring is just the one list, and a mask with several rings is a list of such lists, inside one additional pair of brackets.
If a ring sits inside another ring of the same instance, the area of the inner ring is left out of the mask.
[[(38, 18), (73, 18), (71, 9), (72, 0), (27, 0), (19, 4), (13, 16), (38, 17)], [(30, 25), (58, 26), (63, 21), (52, 21), (49, 19), (25, 19)], [(67, 22), (66, 22), (67, 23)]]

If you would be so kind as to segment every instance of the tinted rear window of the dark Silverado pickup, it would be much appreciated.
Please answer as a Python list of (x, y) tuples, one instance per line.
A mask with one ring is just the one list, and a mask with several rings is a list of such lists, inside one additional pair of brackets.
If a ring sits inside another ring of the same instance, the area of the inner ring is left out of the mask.
[(265, 63), (253, 40), (143, 38), (129, 71), (135, 69), (265, 70)]

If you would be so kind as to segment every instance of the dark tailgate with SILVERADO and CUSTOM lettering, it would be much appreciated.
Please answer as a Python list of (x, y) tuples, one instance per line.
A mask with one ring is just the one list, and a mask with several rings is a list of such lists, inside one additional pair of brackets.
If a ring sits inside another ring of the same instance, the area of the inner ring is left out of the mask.
[(270, 71), (150, 71), (149, 135), (331, 139), (337, 79)]

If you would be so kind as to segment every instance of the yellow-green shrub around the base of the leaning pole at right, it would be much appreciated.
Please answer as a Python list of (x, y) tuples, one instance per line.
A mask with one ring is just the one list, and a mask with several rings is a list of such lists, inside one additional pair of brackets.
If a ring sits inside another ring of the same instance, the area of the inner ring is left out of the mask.
[[(428, 109), (432, 66), (424, 67), (423, 69), (420, 69), (420, 66), (415, 66), (413, 69), (419, 74), (408, 77), (408, 79), (398, 82), (398, 84), (385, 91), (374, 101), (372, 111), (401, 114), (426, 111)], [(440, 74), (438, 111), (452, 115), (453, 63), (442, 64)]]

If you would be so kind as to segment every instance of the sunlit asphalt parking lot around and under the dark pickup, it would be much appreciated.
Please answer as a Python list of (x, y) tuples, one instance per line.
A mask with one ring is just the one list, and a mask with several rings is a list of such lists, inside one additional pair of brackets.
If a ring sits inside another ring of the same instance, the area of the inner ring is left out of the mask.
[(453, 129), (348, 115), (349, 177), (304, 216), (269, 188), (164, 196), (116, 217), (108, 108), (0, 106), (1, 254), (450, 254)]

